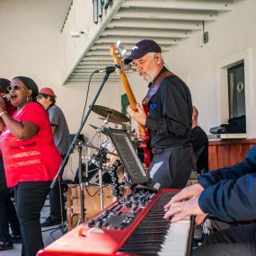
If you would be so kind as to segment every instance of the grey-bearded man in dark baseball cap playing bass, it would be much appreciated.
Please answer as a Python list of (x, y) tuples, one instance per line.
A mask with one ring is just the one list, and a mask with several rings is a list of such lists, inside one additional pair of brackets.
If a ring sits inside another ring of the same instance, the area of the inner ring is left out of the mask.
[(184, 188), (191, 171), (195, 170), (190, 144), (190, 89), (163, 65), (162, 49), (154, 40), (137, 42), (125, 59), (126, 64), (130, 62), (149, 83), (143, 100), (149, 109), (148, 115), (139, 104), (137, 111), (128, 106), (128, 114), (149, 131), (153, 154), (150, 175), (163, 189)]

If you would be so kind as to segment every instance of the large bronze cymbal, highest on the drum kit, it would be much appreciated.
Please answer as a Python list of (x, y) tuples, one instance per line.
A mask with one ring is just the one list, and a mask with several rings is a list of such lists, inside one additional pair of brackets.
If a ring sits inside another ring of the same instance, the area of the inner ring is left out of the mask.
[(113, 110), (107, 107), (103, 107), (100, 105), (94, 105), (92, 108), (93, 112), (96, 114), (107, 118), (109, 117), (109, 121), (112, 123), (117, 123), (117, 124), (123, 124), (129, 121), (128, 117), (122, 113), (120, 113), (117, 110)]

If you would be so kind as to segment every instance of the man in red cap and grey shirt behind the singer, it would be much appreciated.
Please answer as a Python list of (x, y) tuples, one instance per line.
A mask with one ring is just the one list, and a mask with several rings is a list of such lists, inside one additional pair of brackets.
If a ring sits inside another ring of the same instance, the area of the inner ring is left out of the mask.
[[(71, 143), (69, 129), (62, 110), (55, 104), (56, 94), (49, 87), (40, 89), (37, 101), (43, 106), (49, 115), (51, 132), (54, 137), (55, 145), (62, 158), (65, 157)], [(61, 191), (61, 193), (59, 192)], [(60, 182), (49, 192), (50, 213), (42, 227), (63, 223), (65, 216), (65, 200)]]

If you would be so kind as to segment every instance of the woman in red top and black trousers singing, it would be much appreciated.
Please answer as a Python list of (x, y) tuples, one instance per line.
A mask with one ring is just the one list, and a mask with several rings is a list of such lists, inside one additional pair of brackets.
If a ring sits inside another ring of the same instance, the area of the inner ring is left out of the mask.
[(35, 256), (43, 248), (40, 211), (49, 193), (61, 156), (51, 135), (46, 111), (35, 101), (37, 84), (25, 76), (8, 87), (17, 108), (11, 117), (0, 99), (0, 147), (8, 187), (14, 187), (22, 232), (22, 256)]

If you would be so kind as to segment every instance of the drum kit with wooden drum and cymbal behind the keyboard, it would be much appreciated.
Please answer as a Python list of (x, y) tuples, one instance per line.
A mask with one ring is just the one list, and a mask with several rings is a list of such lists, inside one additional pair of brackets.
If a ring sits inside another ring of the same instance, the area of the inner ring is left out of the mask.
[[(85, 220), (83, 216), (86, 219), (92, 217), (103, 207), (110, 205), (114, 199), (128, 192), (124, 170), (119, 155), (108, 137), (106, 126), (109, 122), (113, 123), (114, 128), (119, 128), (120, 125), (128, 126), (129, 119), (117, 110), (100, 105), (94, 105), (92, 111), (101, 116), (103, 124), (102, 127), (89, 124), (95, 130), (95, 134), (86, 145), (83, 145), (87, 155), (84, 158), (85, 163), (78, 168), (78, 172), (81, 172), (79, 184), (68, 185), (66, 196), (68, 230), (83, 222)], [(135, 133), (129, 132), (128, 135), (137, 147), (139, 140)], [(97, 138), (97, 146), (93, 145), (95, 138)]]

